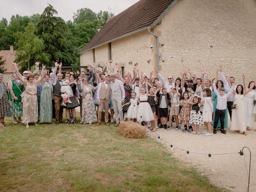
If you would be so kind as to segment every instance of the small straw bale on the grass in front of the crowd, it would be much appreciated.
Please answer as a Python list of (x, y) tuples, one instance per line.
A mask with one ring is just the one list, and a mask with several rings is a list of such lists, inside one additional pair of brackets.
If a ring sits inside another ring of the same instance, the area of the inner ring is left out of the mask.
[(123, 121), (119, 124), (119, 133), (127, 138), (144, 138), (146, 137), (146, 127), (131, 121)]

